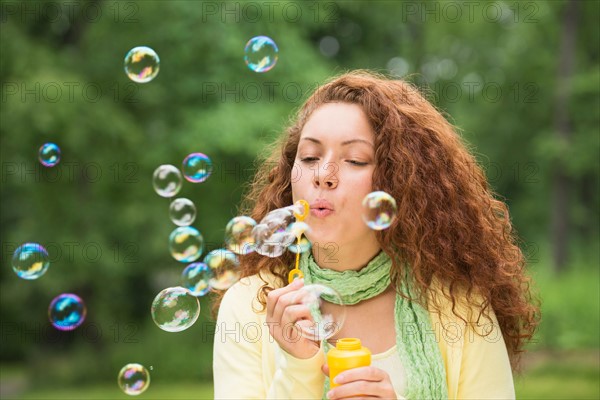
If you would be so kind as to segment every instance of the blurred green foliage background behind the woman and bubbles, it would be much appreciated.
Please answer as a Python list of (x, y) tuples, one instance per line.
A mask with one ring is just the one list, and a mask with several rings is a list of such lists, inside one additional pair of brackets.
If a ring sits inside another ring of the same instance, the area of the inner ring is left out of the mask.
[[(206, 250), (221, 247), (255, 160), (314, 87), (355, 68), (414, 82), (472, 146), (540, 281), (550, 322), (534, 348), (600, 347), (598, 2), (580, 2), (566, 82), (558, 78), (565, 1), (482, 3), (470, 12), (461, 2), (1, 4), (0, 362), (26, 365), (29, 385), (111, 381), (128, 362), (154, 366), (158, 380), (210, 380), (209, 300), (182, 333), (163, 332), (150, 317), (154, 296), (178, 285), (183, 269), (167, 249), (174, 226), (152, 173), (191, 152), (212, 158), (211, 178), (185, 182), (180, 196), (198, 208)], [(264, 74), (243, 61), (257, 35), (280, 49)], [(339, 43), (333, 56), (320, 50), (328, 36)], [(161, 58), (147, 84), (123, 72), (138, 45)], [(569, 141), (554, 124), (561, 84), (570, 93)], [(47, 141), (62, 150), (52, 170), (37, 162)], [(568, 279), (551, 274), (557, 170), (571, 182)], [(52, 265), (24, 281), (10, 260), (31, 241), (46, 245)], [(88, 307), (70, 333), (47, 322), (47, 305), (63, 292)]]

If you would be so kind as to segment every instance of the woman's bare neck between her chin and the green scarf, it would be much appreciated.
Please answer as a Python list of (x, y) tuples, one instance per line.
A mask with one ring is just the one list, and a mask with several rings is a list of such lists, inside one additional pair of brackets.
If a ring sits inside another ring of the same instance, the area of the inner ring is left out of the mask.
[(336, 246), (313, 247), (312, 254), (317, 265), (334, 271), (358, 271), (365, 267), (379, 252), (377, 246)]

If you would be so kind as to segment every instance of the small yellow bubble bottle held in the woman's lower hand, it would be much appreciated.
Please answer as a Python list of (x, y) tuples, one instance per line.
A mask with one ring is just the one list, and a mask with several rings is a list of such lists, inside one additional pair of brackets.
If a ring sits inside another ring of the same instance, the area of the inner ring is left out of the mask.
[(334, 388), (339, 385), (336, 385), (333, 379), (342, 371), (371, 365), (371, 350), (362, 346), (360, 339), (338, 339), (335, 348), (327, 352), (327, 365), (330, 387)]

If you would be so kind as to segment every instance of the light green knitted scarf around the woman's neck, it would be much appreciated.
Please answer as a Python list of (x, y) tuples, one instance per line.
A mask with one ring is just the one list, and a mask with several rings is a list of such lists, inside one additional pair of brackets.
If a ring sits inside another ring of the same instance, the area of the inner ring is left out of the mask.
[[(390, 285), (392, 260), (380, 252), (360, 271), (334, 271), (322, 269), (310, 251), (302, 254), (300, 270), (304, 283), (320, 283), (335, 289), (345, 305), (356, 304), (381, 294)], [(407, 279), (402, 292), (410, 296)], [(333, 299), (327, 299), (334, 301)], [(429, 312), (421, 305), (396, 295), (395, 303), (396, 345), (400, 360), (406, 370), (408, 399), (447, 399), (446, 371), (435, 336), (432, 334)], [(325, 352), (331, 347), (322, 343)], [(329, 378), (325, 379), (323, 398), (329, 391)]]

